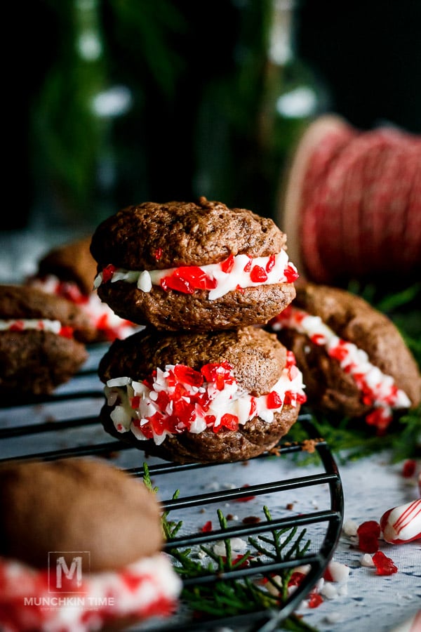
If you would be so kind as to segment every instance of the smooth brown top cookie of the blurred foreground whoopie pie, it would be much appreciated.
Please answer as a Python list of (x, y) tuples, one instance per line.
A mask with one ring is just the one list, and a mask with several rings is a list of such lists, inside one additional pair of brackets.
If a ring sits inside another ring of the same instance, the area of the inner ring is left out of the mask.
[(154, 494), (102, 461), (1, 466), (0, 515), (0, 554), (34, 567), (48, 551), (89, 551), (92, 571), (118, 570), (161, 549)]

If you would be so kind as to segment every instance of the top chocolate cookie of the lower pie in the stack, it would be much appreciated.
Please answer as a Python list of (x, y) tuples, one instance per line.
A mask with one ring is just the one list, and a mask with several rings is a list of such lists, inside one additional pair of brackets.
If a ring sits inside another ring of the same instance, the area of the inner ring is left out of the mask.
[(103, 382), (120, 376), (142, 380), (166, 364), (185, 364), (199, 371), (210, 362), (232, 364), (236, 380), (252, 395), (268, 393), (286, 365), (286, 348), (275, 334), (256, 327), (163, 334), (140, 331), (114, 341), (99, 365)]

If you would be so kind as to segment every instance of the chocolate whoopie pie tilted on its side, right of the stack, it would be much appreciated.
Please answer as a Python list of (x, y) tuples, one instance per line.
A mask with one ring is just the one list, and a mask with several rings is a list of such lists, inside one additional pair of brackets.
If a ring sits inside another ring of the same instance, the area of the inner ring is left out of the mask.
[(346, 290), (313, 283), (269, 322), (293, 351), (309, 404), (385, 430), (395, 410), (416, 407), (421, 378), (389, 318)]

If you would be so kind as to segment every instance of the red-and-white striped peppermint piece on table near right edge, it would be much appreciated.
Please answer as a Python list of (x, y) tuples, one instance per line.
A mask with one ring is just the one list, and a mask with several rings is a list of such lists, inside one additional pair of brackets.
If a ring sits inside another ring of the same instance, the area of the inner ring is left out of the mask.
[(380, 518), (383, 538), (389, 544), (404, 544), (421, 538), (421, 499), (386, 511)]

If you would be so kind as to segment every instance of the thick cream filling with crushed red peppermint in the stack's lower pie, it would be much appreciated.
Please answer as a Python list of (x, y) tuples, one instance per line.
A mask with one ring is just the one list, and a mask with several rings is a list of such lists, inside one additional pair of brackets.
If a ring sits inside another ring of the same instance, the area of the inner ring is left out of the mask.
[(120, 433), (131, 431), (139, 440), (160, 445), (167, 435), (199, 434), (211, 428), (237, 430), (255, 416), (272, 423), (284, 405), (297, 407), (306, 400), (302, 374), (288, 352), (281, 377), (272, 390), (250, 395), (236, 381), (228, 362), (210, 362), (199, 371), (185, 364), (157, 368), (142, 382), (112, 378), (105, 386), (110, 416)]

